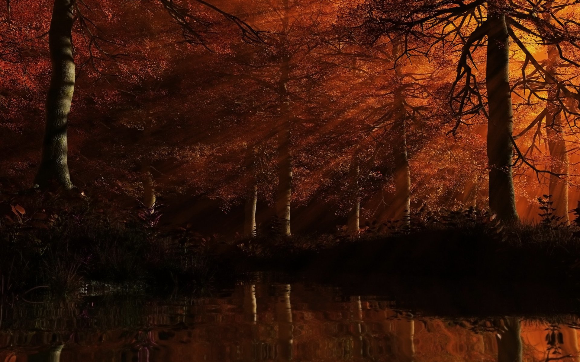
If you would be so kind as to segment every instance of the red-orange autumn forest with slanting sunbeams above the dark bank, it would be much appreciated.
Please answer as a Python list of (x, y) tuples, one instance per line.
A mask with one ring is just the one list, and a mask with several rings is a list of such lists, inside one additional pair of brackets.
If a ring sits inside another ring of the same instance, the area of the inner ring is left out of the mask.
[(573, 1), (5, 5), (6, 248), (575, 244)]

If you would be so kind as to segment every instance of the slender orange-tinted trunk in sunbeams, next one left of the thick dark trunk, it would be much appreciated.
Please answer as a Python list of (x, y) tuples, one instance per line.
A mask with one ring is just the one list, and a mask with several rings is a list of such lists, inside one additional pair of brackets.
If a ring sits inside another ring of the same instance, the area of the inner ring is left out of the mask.
[(411, 209), (411, 171), (409, 170), (409, 159), (407, 156), (407, 111), (404, 104), (403, 67), (398, 57), (403, 53), (401, 38), (393, 40), (393, 58), (397, 60), (395, 64), (395, 78), (397, 90), (394, 94), (395, 119), (393, 123), (395, 149), (395, 195), (393, 209), (395, 220), (409, 224), (409, 210)]

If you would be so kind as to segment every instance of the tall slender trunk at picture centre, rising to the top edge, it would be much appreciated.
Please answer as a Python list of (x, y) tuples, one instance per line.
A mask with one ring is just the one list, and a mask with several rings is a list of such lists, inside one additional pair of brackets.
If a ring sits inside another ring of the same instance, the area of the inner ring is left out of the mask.
[(290, 236), (290, 203), (292, 199), (292, 155), (290, 152), (290, 99), (288, 81), (290, 75), (290, 54), (288, 51), (289, 2), (284, 0), (284, 16), (280, 43), (282, 62), (280, 66), (280, 130), (278, 131), (278, 195), (276, 198), (276, 215), (281, 222), (282, 235)]

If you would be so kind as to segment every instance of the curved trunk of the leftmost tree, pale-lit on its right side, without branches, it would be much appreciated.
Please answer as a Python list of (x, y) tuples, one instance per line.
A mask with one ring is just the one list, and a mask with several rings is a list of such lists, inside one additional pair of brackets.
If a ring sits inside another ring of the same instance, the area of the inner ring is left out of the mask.
[(71, 31), (74, 23), (74, 0), (55, 0), (48, 46), (52, 63), (50, 85), (46, 95), (46, 118), (42, 158), (34, 186), (46, 188), (56, 181), (61, 187), (73, 188), (67, 163), (67, 123), (73, 99), (75, 65)]

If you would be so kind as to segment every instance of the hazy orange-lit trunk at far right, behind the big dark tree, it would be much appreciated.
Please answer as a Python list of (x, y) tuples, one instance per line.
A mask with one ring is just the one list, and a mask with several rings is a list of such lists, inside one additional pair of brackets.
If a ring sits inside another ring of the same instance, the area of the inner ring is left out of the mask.
[[(550, 6), (551, 3), (548, 3)], [(545, 14), (544, 19), (550, 21), (550, 14)], [(560, 54), (555, 45), (548, 46), (548, 64), (546, 69), (552, 74), (556, 75), (557, 68), (559, 65)], [(562, 174), (563, 176), (558, 177), (556, 175), (550, 175), (550, 191), (549, 194), (550, 201), (553, 201), (554, 215), (561, 217), (561, 222), (566, 225), (570, 224), (570, 217), (568, 213), (570, 209), (568, 208), (568, 183), (566, 182), (566, 177), (569, 173), (568, 170), (568, 152), (566, 149), (566, 144), (564, 141), (564, 124), (562, 122), (562, 111), (561, 107), (557, 105), (558, 90), (557, 85), (553, 81), (548, 80), (548, 83), (552, 83), (548, 90), (548, 114), (546, 115), (546, 137), (548, 139), (548, 148), (550, 149), (550, 156), (552, 158), (552, 172), (557, 174)]]

